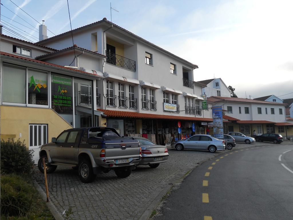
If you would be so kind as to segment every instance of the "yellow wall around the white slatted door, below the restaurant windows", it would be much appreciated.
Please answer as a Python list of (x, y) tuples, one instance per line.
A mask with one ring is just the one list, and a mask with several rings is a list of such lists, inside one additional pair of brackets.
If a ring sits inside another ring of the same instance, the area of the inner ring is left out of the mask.
[[(29, 124), (48, 124), (48, 142), (52, 137), (57, 137), (62, 131), (72, 128), (61, 116), (52, 109), (1, 106), (1, 138), (4, 140), (15, 136), (25, 140), (29, 146)], [(8, 136), (7, 136), (8, 135)]]

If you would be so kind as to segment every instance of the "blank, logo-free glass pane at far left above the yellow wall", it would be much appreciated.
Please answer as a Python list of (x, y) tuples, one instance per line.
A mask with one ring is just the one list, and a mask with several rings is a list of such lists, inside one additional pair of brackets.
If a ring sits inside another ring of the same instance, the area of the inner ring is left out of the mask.
[(25, 68), (3, 65), (3, 102), (25, 104)]

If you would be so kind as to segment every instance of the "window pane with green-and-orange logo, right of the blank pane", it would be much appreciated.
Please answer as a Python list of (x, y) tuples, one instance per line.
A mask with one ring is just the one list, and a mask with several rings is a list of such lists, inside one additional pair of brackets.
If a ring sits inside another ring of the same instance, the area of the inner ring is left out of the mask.
[(48, 73), (28, 70), (28, 104), (48, 106)]

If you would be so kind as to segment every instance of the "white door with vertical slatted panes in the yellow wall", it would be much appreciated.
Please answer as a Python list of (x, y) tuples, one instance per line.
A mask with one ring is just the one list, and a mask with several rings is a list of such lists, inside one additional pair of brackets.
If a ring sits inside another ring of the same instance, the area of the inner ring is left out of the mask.
[(46, 124), (30, 124), (29, 126), (29, 149), (33, 150), (35, 164), (38, 163), (41, 146), (48, 143), (47, 131), (48, 125)]

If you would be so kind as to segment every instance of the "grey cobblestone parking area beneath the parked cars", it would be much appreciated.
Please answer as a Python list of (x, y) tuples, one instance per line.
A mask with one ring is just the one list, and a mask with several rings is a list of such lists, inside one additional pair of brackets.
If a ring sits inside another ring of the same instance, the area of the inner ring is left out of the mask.
[[(233, 150), (270, 143), (237, 143)], [(208, 160), (222, 153), (206, 151), (169, 149), (166, 163), (152, 169), (138, 166), (132, 174), (120, 179), (115, 172), (102, 173), (92, 183), (82, 183), (77, 170), (58, 166), (57, 170), (47, 175), (50, 201), (62, 212), (69, 207), (74, 213), (71, 219), (139, 219), (157, 195), (168, 186), (170, 181), (184, 175), (188, 167)], [(184, 173), (182, 173), (184, 172)], [(34, 178), (45, 192), (44, 176), (36, 168)]]

